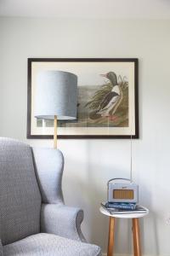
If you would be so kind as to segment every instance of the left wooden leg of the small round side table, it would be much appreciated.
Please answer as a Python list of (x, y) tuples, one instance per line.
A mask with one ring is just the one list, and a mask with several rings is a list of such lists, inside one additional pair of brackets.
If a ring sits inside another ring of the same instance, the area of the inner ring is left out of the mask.
[(115, 234), (115, 218), (110, 217), (107, 256), (113, 256), (114, 234)]

